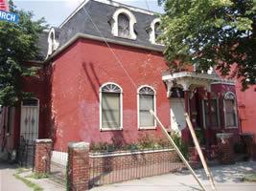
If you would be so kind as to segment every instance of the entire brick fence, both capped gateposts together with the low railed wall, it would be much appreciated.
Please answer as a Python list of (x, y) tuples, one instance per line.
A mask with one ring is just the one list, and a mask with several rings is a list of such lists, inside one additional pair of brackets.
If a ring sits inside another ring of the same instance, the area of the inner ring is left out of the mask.
[[(35, 171), (48, 173), (52, 141), (37, 140), (35, 147)], [(63, 180), (67, 178), (67, 190), (76, 191), (88, 190), (92, 186), (107, 183), (175, 172), (185, 167), (174, 149), (89, 153), (89, 144), (78, 142), (69, 143), (68, 153), (62, 152), (61, 155), (68, 156), (59, 158), (65, 160), (61, 164), (62, 171), (67, 172), (63, 177)]]

